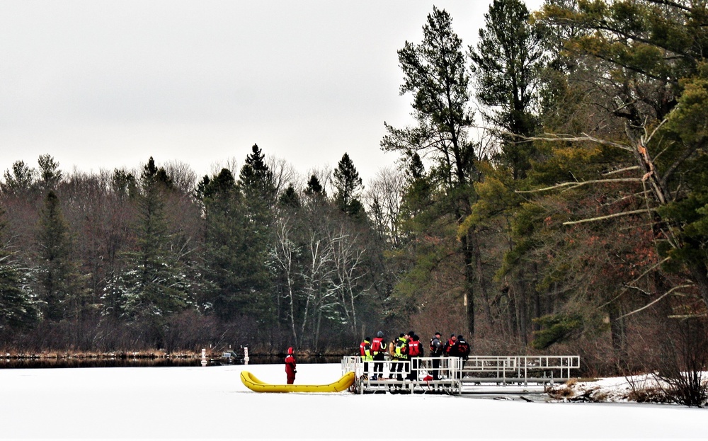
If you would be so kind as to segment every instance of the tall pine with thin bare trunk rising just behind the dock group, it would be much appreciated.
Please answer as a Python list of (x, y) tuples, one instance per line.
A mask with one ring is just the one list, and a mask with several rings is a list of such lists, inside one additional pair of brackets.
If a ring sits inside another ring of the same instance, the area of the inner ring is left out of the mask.
[[(423, 152), (435, 161), (429, 178), (440, 184), (439, 205), (430, 210), (428, 224), (435, 222), (433, 213), (437, 213), (438, 218), (442, 214), (462, 223), (469, 216), (475, 197), (472, 186), (477, 178), (475, 151), (474, 144), (467, 139), (474, 115), (469, 110), (469, 76), (462, 40), (452, 30), (450, 14), (433, 7), (433, 13), (423, 25), (423, 42), (419, 45), (406, 42), (398, 53), (404, 73), (401, 94), (413, 94), (413, 117), (417, 125), (405, 129), (385, 125), (388, 134), (381, 145), (386, 150), (401, 151), (407, 157)], [(455, 237), (455, 242), (459, 244), (457, 251), (462, 257), (464, 273), (461, 303), (469, 333), (474, 335), (472, 233), (464, 232), (459, 241)], [(423, 266), (433, 268), (433, 265)]]

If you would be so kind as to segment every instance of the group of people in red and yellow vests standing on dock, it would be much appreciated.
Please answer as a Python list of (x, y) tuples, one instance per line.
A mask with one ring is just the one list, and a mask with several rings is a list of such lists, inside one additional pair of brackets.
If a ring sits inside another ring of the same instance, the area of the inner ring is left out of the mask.
[[(469, 344), (461, 335), (455, 336), (452, 334), (445, 343), (442, 343), (441, 334), (436, 332), (433, 338), (430, 339), (430, 357), (433, 357), (431, 369), (429, 372), (433, 379), (440, 379), (440, 358), (441, 357), (459, 357), (467, 360), (469, 356)], [(420, 370), (420, 357), (425, 356), (425, 350), (421, 338), (414, 331), (401, 333), (398, 338), (391, 340), (388, 344), (384, 340), (384, 333), (379, 331), (376, 338), (364, 338), (359, 344), (359, 355), (364, 362), (364, 374), (368, 377), (370, 371), (369, 366), (373, 364), (374, 370), (370, 379), (382, 379), (384, 376), (384, 360), (393, 360), (389, 369), (389, 379), (393, 379), (394, 374), (396, 379), (403, 381), (403, 370), (406, 363), (411, 362), (411, 370), (406, 375), (406, 379), (418, 379)]]

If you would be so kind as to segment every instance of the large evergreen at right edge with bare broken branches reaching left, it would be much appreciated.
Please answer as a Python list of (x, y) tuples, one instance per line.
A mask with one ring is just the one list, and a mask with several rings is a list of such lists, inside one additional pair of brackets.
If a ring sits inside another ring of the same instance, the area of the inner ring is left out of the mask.
[[(663, 238), (654, 244), (670, 261), (662, 268), (666, 273), (646, 273), (656, 285), (654, 295), (664, 298), (690, 285), (704, 304), (708, 304), (708, 236), (702, 227), (708, 200), (703, 172), (708, 144), (706, 17), (704, 2), (600, 0), (570, 5), (549, 1), (542, 16), (550, 25), (580, 29), (565, 47), (578, 66), (593, 69), (578, 67), (568, 75), (572, 86), (586, 91), (583, 105), (575, 106), (583, 118), (574, 118), (572, 133), (583, 133), (583, 139), (600, 146), (596, 149), (615, 149), (611, 165), (599, 172), (606, 175), (611, 170), (613, 178), (627, 182), (617, 200), (644, 196), (653, 237)], [(561, 130), (570, 132), (566, 127)], [(573, 147), (581, 150), (583, 144)], [(594, 181), (607, 185), (608, 180), (602, 176)], [(636, 183), (641, 183), (641, 190)], [(597, 217), (595, 213), (588, 219)]]

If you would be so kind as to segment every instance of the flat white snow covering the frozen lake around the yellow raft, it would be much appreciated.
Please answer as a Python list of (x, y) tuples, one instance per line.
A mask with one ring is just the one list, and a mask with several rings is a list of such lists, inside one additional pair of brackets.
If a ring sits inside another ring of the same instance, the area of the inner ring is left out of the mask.
[[(0, 439), (707, 438), (708, 410), (468, 396), (258, 394), (241, 370), (285, 382), (282, 365), (0, 370)], [(298, 365), (296, 384), (341, 367)]]

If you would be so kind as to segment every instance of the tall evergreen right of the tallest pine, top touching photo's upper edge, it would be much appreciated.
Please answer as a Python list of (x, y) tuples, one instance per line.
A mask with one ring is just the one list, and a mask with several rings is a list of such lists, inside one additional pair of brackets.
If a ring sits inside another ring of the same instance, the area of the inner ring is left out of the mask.
[[(543, 66), (541, 35), (530, 24), (530, 14), (519, 0), (494, 0), (489, 12), (484, 15), (485, 27), (479, 30), (476, 49), (469, 48), (472, 71), (476, 79), (476, 97), (489, 110), (482, 114), (491, 123), (501, 151), (494, 156), (493, 164), (486, 164), (484, 182), (476, 185), (479, 200), (472, 207), (472, 214), (463, 228), (474, 230), (477, 236), (493, 234), (500, 244), (508, 244), (506, 256), (501, 253), (478, 253), (476, 265), (478, 292), (490, 323), (496, 321), (489, 304), (489, 275), (484, 274), (483, 262), (503, 267), (503, 261), (513, 260), (513, 270), (500, 270), (508, 282), (504, 288), (512, 294), (508, 303), (509, 332), (526, 345), (530, 333), (530, 317), (539, 317), (539, 307), (531, 312), (531, 305), (539, 305), (537, 287), (538, 267), (534, 260), (518, 258), (529, 241), (513, 234), (515, 214), (523, 200), (513, 190), (527, 185), (523, 180), (535, 159), (536, 148), (531, 137), (537, 132), (537, 84)], [(506, 225), (508, 228), (491, 229), (491, 225)], [(520, 249), (517, 249), (520, 247)], [(491, 251), (491, 250), (490, 250)]]

